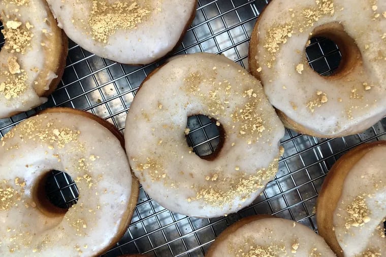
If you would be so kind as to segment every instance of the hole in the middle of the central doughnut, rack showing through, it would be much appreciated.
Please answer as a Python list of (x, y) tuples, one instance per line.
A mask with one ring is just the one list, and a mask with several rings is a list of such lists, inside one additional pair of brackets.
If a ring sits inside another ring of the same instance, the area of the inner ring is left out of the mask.
[(225, 131), (222, 125), (208, 116), (194, 115), (187, 118), (187, 128), (189, 133), (186, 141), (193, 152), (201, 159), (214, 160), (224, 142)]

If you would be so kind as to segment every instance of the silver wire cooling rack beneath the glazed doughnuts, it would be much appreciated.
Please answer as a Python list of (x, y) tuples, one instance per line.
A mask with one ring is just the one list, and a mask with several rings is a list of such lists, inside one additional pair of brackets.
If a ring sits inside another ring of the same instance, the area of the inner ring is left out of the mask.
[[(210, 52), (223, 54), (247, 68), (250, 34), (256, 17), (268, 0), (199, 0), (196, 18), (174, 54)], [(3, 28), (2, 26), (0, 28)], [(0, 33), (0, 47), (4, 37)], [(323, 38), (307, 48), (311, 67), (324, 76), (332, 74), (341, 59), (336, 45)], [(65, 74), (58, 89), (44, 105), (27, 113), (0, 120), (0, 135), (41, 109), (67, 106), (96, 114), (120, 131), (136, 91), (159, 61), (142, 67), (102, 59), (70, 42)], [(205, 116), (188, 120), (187, 143), (199, 155), (213, 153), (218, 144), (216, 126)], [(314, 206), (321, 183), (334, 162), (347, 150), (368, 141), (386, 139), (386, 119), (362, 134), (323, 139), (286, 130), (285, 148), (275, 179), (253, 204), (236, 214), (220, 218), (192, 218), (161, 207), (140, 189), (132, 219), (119, 242), (103, 256), (147, 253), (149, 256), (203, 256), (225, 228), (242, 217), (274, 214), (293, 219), (317, 231)], [(66, 173), (52, 171), (46, 192), (56, 205), (76, 203), (78, 191)]]

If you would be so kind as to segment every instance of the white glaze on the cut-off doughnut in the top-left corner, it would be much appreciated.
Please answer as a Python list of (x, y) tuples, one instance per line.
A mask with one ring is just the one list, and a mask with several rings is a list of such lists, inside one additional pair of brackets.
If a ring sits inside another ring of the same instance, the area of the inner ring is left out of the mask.
[[(45, 22), (48, 15), (51, 15), (47, 12), (47, 4), (45, 1), (29, 0), (27, 6), (16, 6), (11, 3), (13, 3), (11, 0), (0, 1), (0, 15), (5, 28), (7, 28), (6, 24), (8, 20), (16, 19), (17, 21), (22, 22), (21, 26), (25, 26), (26, 22), (29, 22), (34, 26), (30, 28), (31, 33), (33, 33), (34, 36), (30, 41), (31, 47), (26, 50), (25, 54), (16, 52), (11, 53), (7, 51), (5, 47), (3, 47), (0, 52), (0, 84), (7, 79), (2, 71), (8, 71), (8, 58), (17, 57), (20, 69), (25, 70), (27, 74), (26, 84), (28, 85), (27, 90), (15, 98), (6, 99), (4, 94), (0, 94), (0, 118), (9, 117), (15, 112), (28, 111), (47, 101), (46, 97), (39, 97), (37, 95), (34, 90), (34, 83), (40, 72), (47, 72), (47, 67), (45, 65), (46, 56), (43, 54), (44, 49), (56, 49), (56, 46), (52, 46), (47, 39), (47, 35), (49, 36), (49, 34), (54, 31), (51, 29), (53, 24), (47, 24), (47, 22)], [(16, 9), (18, 10), (17, 12), (15, 11)], [(47, 33), (43, 33), (43, 30), (46, 30)], [(42, 46), (42, 44), (45, 45)], [(46, 85), (45, 88), (47, 90), (52, 82), (52, 76), (49, 76), (49, 74), (54, 72), (55, 71), (49, 70), (47, 80), (43, 82)]]

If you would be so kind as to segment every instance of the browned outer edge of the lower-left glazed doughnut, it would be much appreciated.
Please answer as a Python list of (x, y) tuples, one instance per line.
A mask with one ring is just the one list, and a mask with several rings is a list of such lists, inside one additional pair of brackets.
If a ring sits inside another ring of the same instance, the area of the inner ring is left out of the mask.
[[(67, 114), (72, 114), (72, 115), (80, 115), (80, 116), (85, 117), (87, 119), (96, 121), (99, 124), (101, 124), (102, 126), (104, 126), (105, 128), (107, 128), (111, 133), (113, 133), (113, 135), (118, 138), (118, 140), (121, 143), (122, 148), (124, 149), (124, 137), (119, 132), (119, 130), (117, 128), (115, 128), (115, 126), (112, 125), (111, 123), (105, 121), (104, 119), (101, 119), (100, 117), (98, 117), (96, 115), (93, 115), (93, 114), (88, 113), (88, 112), (80, 111), (78, 109), (68, 108), (68, 107), (48, 108), (48, 109), (45, 109), (44, 111), (40, 112), (38, 115), (44, 115), (44, 114), (48, 114), (48, 113), (67, 113)], [(133, 179), (132, 180), (132, 192), (131, 192), (131, 195), (130, 195), (130, 201), (127, 203), (127, 211), (126, 211), (126, 213), (124, 215), (124, 216), (126, 216), (125, 217), (125, 221), (122, 222), (120, 225), (118, 225), (119, 226), (118, 230), (120, 232), (117, 233), (117, 235), (115, 235), (111, 239), (111, 244), (109, 246), (107, 246), (106, 248), (102, 249), (98, 253), (95, 252), (96, 255), (102, 254), (105, 251), (107, 251), (108, 249), (110, 249), (112, 246), (114, 246), (114, 244), (126, 232), (126, 229), (127, 229), (128, 225), (130, 225), (130, 223), (131, 223), (131, 220), (132, 220), (132, 217), (133, 217), (133, 213), (134, 213), (134, 209), (135, 209), (135, 207), (137, 205), (138, 195), (139, 195), (139, 182), (138, 182), (138, 179), (134, 176), (133, 173), (132, 173), (132, 179)], [(39, 191), (41, 191), (41, 190), (39, 190)], [(46, 197), (39, 197), (39, 199), (45, 199), (45, 198)], [(52, 206), (52, 204), (50, 204), (50, 205)], [(63, 211), (61, 211), (61, 213), (62, 212)], [(101, 235), (101, 236), (103, 236), (103, 235)]]

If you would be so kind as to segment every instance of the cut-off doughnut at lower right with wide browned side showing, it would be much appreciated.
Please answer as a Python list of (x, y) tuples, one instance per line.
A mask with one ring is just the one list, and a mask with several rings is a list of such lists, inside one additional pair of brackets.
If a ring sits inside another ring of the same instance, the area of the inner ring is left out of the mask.
[(319, 193), (319, 235), (338, 256), (385, 256), (386, 141), (361, 144), (331, 168)]

